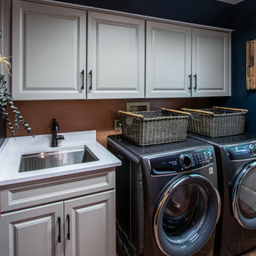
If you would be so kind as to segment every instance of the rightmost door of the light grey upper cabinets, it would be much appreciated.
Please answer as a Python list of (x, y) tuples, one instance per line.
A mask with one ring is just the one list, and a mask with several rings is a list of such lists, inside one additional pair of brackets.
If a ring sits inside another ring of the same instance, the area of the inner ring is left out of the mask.
[(210, 97), (230, 95), (229, 56), (228, 33), (193, 28), (192, 96)]

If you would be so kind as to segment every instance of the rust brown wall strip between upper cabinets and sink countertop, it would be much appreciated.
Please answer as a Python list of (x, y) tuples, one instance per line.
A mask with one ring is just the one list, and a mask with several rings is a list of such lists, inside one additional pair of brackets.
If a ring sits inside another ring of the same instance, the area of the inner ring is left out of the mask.
[[(106, 146), (107, 135), (114, 131), (117, 110), (126, 110), (127, 102), (150, 102), (151, 110), (160, 107), (180, 110), (181, 107), (210, 107), (209, 98), (137, 99), (137, 100), (38, 100), (15, 102), (23, 118), (35, 134), (50, 134), (51, 120), (56, 118), (61, 132), (78, 132), (96, 129), (97, 141)], [(27, 133), (21, 128), (17, 136)], [(7, 132), (7, 137), (11, 134)]]

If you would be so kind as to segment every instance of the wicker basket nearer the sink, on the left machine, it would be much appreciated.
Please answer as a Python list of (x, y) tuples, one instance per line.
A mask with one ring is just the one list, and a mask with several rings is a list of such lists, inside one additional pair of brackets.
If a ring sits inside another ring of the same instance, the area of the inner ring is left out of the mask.
[(181, 142), (186, 139), (189, 113), (161, 108), (156, 111), (119, 110), (122, 134), (139, 146)]

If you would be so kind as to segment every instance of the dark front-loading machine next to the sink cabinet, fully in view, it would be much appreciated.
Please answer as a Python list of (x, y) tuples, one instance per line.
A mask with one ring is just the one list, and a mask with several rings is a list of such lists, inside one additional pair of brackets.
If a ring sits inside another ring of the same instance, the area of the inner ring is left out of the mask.
[(116, 169), (119, 255), (213, 255), (220, 215), (213, 146), (195, 139), (140, 147), (121, 135), (107, 148)]

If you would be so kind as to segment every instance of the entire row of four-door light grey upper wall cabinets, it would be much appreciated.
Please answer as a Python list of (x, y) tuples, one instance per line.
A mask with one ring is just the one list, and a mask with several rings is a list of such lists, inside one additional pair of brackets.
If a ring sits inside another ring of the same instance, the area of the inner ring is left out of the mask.
[(231, 95), (229, 30), (52, 2), (12, 6), (15, 100)]

